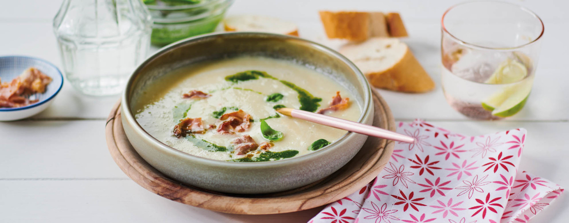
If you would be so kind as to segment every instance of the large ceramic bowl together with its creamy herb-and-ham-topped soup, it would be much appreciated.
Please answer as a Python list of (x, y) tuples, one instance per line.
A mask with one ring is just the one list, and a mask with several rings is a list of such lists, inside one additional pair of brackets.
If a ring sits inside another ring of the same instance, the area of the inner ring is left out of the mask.
[(279, 114), (295, 108), (373, 122), (372, 93), (348, 59), (318, 43), (228, 32), (160, 49), (122, 96), (125, 133), (152, 167), (226, 193), (271, 193), (331, 175), (367, 137)]

